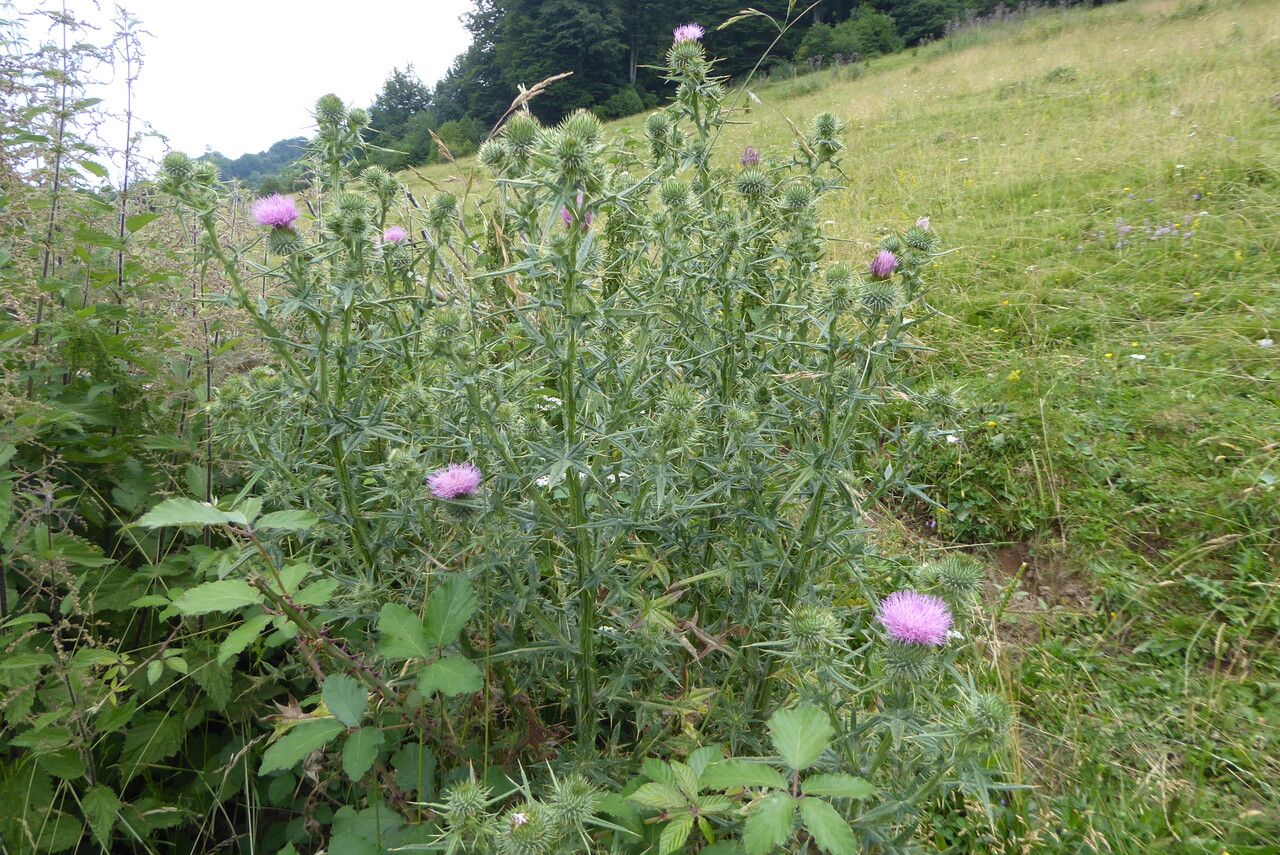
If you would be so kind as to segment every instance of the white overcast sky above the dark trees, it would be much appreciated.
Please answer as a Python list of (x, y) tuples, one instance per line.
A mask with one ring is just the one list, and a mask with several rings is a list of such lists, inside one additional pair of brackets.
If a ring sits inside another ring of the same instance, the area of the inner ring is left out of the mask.
[[(3, 5), (3, 4), (0, 4)], [(65, 0), (102, 26), (115, 3)], [(134, 113), (201, 154), (237, 157), (276, 140), (307, 136), (315, 100), (335, 92), (369, 106), (393, 67), (413, 64), (428, 84), (466, 50), (461, 15), (470, 0), (120, 0), (142, 19), (145, 65)], [(63, 0), (17, 0), (19, 12), (60, 9)], [(28, 18), (27, 37), (44, 41), (47, 22)], [(123, 108), (119, 81), (95, 95)]]

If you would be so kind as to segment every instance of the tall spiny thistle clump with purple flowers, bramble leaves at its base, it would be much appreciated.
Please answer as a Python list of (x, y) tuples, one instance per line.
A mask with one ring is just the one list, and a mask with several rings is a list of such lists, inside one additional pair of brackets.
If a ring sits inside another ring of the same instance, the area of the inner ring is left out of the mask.
[(334, 96), (308, 215), (255, 206), (265, 247), (225, 247), (216, 180), (166, 159), (274, 360), (210, 407), (247, 485), (142, 523), (221, 530), (166, 616), (219, 616), (302, 699), (256, 769), (270, 845), (897, 851), (1005, 786), (980, 568), (887, 596), (861, 538), (934, 232), (828, 264), (840, 123), (723, 163), (700, 33), (643, 146), (517, 110), (479, 201), (355, 175), (367, 118)]

